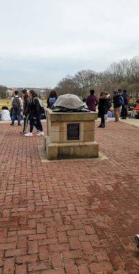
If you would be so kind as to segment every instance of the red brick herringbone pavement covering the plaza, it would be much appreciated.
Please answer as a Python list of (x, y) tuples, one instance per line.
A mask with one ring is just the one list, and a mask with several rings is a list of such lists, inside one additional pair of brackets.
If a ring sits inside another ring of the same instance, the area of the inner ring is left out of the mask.
[(43, 137), (0, 125), (0, 273), (138, 273), (139, 131), (97, 125), (108, 160), (44, 163)]

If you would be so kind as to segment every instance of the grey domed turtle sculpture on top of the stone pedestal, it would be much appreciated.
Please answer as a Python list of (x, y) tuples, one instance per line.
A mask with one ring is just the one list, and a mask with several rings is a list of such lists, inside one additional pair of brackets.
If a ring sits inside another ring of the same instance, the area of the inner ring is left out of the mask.
[(74, 94), (63, 94), (58, 96), (54, 107), (65, 107), (67, 109), (78, 109), (83, 107), (83, 103), (80, 98)]

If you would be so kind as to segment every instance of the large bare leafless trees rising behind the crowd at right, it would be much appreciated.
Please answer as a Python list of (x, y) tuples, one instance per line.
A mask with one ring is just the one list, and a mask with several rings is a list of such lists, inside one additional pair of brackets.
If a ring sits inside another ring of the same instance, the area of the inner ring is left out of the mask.
[(139, 92), (139, 56), (131, 60), (124, 59), (118, 63), (111, 63), (104, 72), (81, 70), (74, 76), (67, 75), (58, 82), (55, 89), (60, 94), (76, 94), (84, 97), (89, 89), (95, 89), (96, 95), (107, 91), (113, 96), (114, 89), (127, 89), (133, 98)]

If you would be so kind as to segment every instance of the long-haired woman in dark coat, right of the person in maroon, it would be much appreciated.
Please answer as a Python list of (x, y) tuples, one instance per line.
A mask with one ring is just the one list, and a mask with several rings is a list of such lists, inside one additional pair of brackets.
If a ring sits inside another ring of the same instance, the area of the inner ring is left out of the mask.
[(101, 123), (99, 127), (105, 127), (105, 114), (107, 114), (109, 108), (109, 101), (105, 92), (100, 93), (98, 101), (98, 112), (101, 116)]

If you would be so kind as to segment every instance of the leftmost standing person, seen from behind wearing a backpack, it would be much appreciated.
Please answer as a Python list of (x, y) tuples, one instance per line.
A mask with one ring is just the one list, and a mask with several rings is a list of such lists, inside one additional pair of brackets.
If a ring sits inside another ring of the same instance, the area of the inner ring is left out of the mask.
[(21, 107), (22, 107), (22, 100), (19, 97), (19, 92), (16, 90), (14, 92), (14, 97), (11, 99), (12, 109), (12, 123), (10, 125), (14, 125), (14, 120), (16, 116), (18, 117), (18, 125), (21, 125)]

